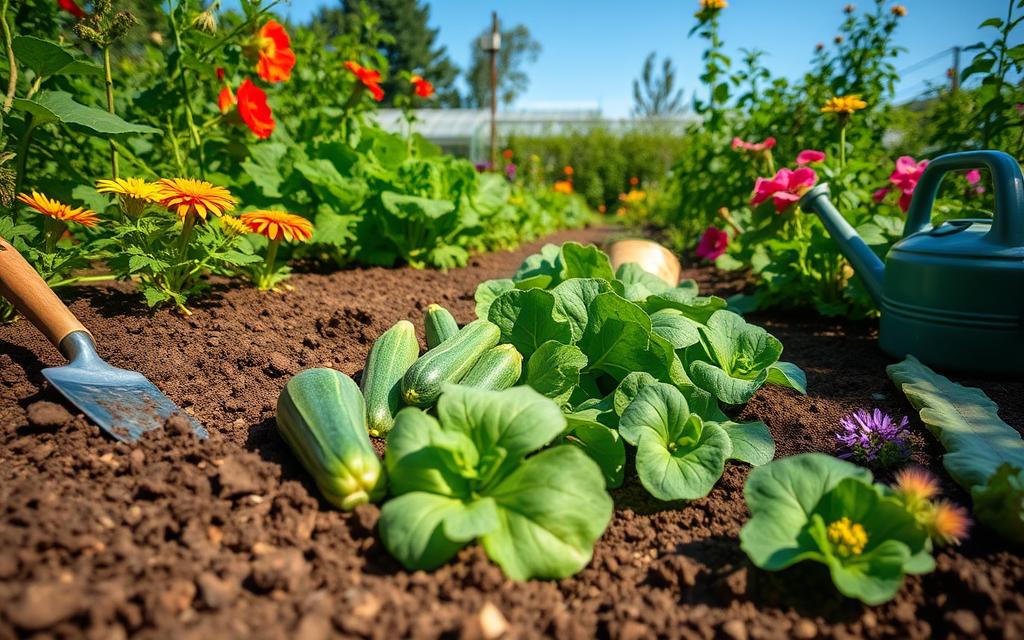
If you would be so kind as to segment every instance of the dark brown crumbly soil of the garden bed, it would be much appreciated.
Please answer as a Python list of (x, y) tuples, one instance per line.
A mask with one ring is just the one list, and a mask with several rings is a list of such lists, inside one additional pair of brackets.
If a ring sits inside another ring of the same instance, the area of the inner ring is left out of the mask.
[[(654, 503), (628, 482), (593, 562), (572, 579), (509, 582), (478, 548), (433, 573), (402, 570), (374, 534), (377, 507), (346, 514), (317, 498), (274, 431), (278, 393), (306, 367), (357, 374), (379, 333), (401, 318), (420, 326), (431, 302), (471, 319), (476, 284), (536, 249), (447, 273), (302, 274), (283, 294), (219, 293), (188, 318), (151, 313), (120, 286), (68, 294), (102, 354), (195, 415), (212, 433), (205, 442), (175, 426), (114, 442), (45, 384), (40, 370), (60, 364), (56, 351), (27, 323), (0, 328), (0, 638), (1024, 635), (1024, 561), (981, 527), (873, 608), (839, 597), (820, 566), (754, 568), (736, 540), (743, 465), (689, 504)], [(687, 275), (706, 291), (742, 287), (710, 269)], [(778, 456), (833, 453), (831, 431), (855, 408), (910, 411), (885, 376), (873, 324), (754, 319), (808, 374), (807, 397), (767, 388), (742, 412), (769, 425)], [(1024, 383), (964, 382), (1024, 426)], [(940, 447), (912, 424), (915, 461), (941, 474)]]

